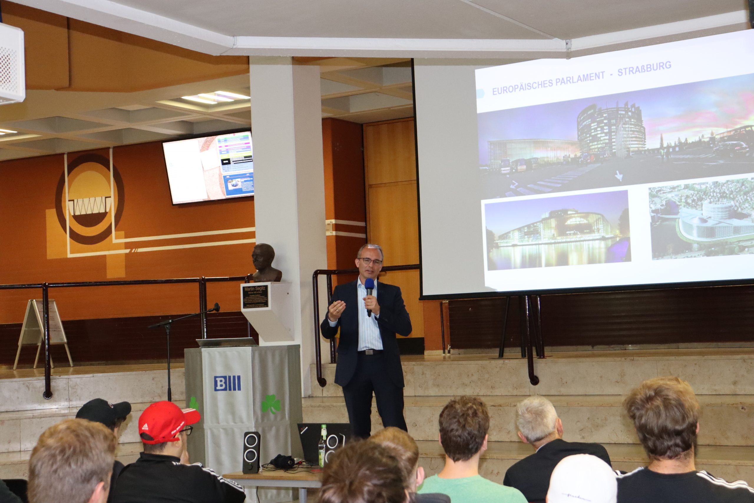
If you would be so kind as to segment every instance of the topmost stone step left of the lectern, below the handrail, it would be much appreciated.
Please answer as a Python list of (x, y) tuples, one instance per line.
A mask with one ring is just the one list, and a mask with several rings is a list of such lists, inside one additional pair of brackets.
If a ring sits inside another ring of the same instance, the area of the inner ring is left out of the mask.
[[(173, 400), (185, 400), (183, 363), (171, 364)], [(124, 372), (123, 369), (128, 371)], [(51, 379), (53, 396), (42, 397), (44, 370), (0, 371), (0, 413), (21, 410), (80, 407), (92, 398), (111, 403), (152, 403), (167, 400), (167, 364), (56, 367)]]

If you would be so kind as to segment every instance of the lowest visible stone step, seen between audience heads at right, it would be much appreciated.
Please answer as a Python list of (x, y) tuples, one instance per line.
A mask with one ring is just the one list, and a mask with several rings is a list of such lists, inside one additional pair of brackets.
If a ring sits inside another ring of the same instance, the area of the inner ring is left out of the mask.
[[(426, 474), (434, 475), (443, 469), (445, 454), (437, 441), (420, 440), (419, 463)], [(480, 475), (497, 483), (503, 483), (505, 471), (516, 461), (532, 454), (532, 446), (521, 442), (489, 442), (482, 454)], [(648, 461), (642, 446), (636, 444), (605, 444), (613, 468), (632, 471), (646, 466)], [(696, 457), (697, 470), (706, 470), (715, 477), (728, 482), (734, 480), (754, 481), (754, 447), (749, 446), (700, 446)]]

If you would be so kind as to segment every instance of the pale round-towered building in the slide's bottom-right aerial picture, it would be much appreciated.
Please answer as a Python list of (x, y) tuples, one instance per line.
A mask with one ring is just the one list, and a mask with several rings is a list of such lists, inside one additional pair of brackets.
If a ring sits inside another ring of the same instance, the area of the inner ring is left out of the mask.
[(754, 236), (752, 217), (741, 216), (731, 202), (705, 201), (701, 211), (681, 208), (679, 228), (685, 238), (693, 241)]

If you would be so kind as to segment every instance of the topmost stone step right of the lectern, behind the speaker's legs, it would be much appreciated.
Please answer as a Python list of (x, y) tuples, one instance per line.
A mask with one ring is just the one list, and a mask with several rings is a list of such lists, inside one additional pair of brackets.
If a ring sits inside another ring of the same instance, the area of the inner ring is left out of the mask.
[[(529, 383), (526, 359), (507, 354), (417, 355), (401, 357), (404, 395), (478, 396), (624, 395), (645, 379), (679, 376), (697, 394), (754, 394), (754, 348), (694, 348), (624, 351), (562, 351), (535, 360), (538, 385)], [(335, 364), (323, 365), (324, 388), (311, 366), (311, 395), (342, 396)]]

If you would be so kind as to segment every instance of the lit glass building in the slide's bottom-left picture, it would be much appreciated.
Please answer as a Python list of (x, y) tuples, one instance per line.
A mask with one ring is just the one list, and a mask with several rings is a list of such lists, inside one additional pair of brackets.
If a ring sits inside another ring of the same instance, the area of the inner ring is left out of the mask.
[(498, 236), (498, 246), (553, 244), (566, 241), (590, 241), (614, 235), (610, 222), (602, 213), (572, 209), (545, 213), (538, 222), (514, 228)]

